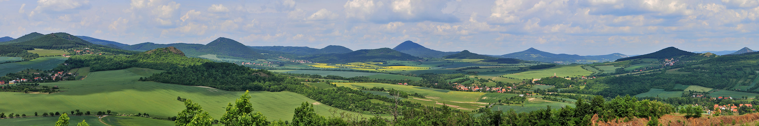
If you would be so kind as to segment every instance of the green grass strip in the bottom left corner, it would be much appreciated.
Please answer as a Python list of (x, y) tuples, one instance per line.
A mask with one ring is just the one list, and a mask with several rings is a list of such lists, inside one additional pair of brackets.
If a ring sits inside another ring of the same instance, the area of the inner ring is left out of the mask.
[[(58, 117), (59, 116), (5, 118), (5, 119), (0, 119), (0, 125), (3, 125), (3, 126), (50, 126), (50, 125), (55, 125), (55, 121), (58, 121)], [(86, 120), (87, 124), (90, 124), (90, 126), (107, 126), (106, 124), (100, 123), (100, 121), (98, 121), (97, 116), (71, 116), (69, 115), (68, 118), (69, 118), (68, 122), (71, 123), (68, 125), (71, 125), (71, 126), (77, 125), (79, 122), (82, 122), (82, 120)], [(153, 119), (153, 120), (158, 120), (158, 119)], [(174, 123), (172, 121), (171, 125), (173, 124)]]

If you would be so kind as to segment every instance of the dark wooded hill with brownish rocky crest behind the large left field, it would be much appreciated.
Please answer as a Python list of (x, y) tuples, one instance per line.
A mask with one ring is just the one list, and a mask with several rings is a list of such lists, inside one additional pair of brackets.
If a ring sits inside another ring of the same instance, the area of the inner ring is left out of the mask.
[(74, 55), (65, 62), (70, 65), (61, 65), (64, 67), (62, 69), (91, 67), (90, 71), (111, 71), (134, 67), (169, 70), (211, 61), (203, 58), (187, 58), (179, 49), (167, 47), (135, 55)]

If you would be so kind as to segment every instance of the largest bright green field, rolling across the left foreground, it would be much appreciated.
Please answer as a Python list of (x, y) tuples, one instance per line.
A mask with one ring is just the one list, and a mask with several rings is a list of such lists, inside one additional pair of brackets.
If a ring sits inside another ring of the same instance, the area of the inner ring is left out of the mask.
[[(147, 72), (146, 72), (147, 73)], [(117, 113), (150, 113), (152, 116), (175, 116), (184, 109), (177, 96), (198, 102), (213, 118), (224, 114), (224, 107), (235, 102), (244, 92), (231, 92), (206, 87), (189, 87), (178, 84), (137, 81), (139, 74), (127, 70), (97, 71), (84, 80), (40, 83), (45, 86), (64, 87), (65, 92), (52, 94), (0, 92), (0, 112), (33, 114), (34, 112), (69, 112), (112, 110)], [(291, 120), (293, 110), (302, 102), (317, 102), (298, 93), (250, 92), (256, 112), (262, 112), (271, 120)], [(24, 101), (24, 102), (17, 102)], [(55, 105), (55, 106), (52, 106)], [(330, 115), (323, 104), (315, 105), (320, 115)], [(345, 112), (342, 111), (341, 112)], [(354, 113), (354, 112), (351, 112)], [(369, 116), (369, 115), (365, 115)]]

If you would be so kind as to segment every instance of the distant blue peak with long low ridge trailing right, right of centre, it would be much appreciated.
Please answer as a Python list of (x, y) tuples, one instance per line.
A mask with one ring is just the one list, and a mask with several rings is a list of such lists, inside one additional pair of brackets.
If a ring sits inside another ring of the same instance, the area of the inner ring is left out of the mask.
[(626, 58), (629, 57), (628, 55), (623, 55), (619, 53), (613, 53), (609, 55), (568, 55), (568, 54), (553, 54), (550, 52), (543, 52), (534, 48), (530, 48), (521, 52), (513, 52), (505, 55), (500, 55), (497, 57), (501, 58), (517, 58), (521, 60), (528, 60), (528, 61), (542, 61), (542, 62), (555, 62), (555, 61), (567, 61), (567, 62), (575, 62), (575, 61), (587, 61), (587, 62), (603, 62), (603, 61), (614, 61), (618, 58)]

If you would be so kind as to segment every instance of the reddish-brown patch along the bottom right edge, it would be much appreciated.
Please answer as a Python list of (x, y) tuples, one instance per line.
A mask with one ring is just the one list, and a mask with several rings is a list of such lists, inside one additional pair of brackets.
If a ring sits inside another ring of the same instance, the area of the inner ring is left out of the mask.
[[(682, 115), (663, 115), (659, 118), (659, 123), (669, 126), (685, 126), (685, 125), (733, 125), (735, 124), (753, 124), (754, 121), (759, 120), (759, 113), (751, 113), (746, 115), (722, 115), (722, 116), (710, 116), (704, 115), (701, 118), (685, 118)], [(624, 118), (617, 121), (598, 121), (597, 115), (593, 116), (592, 121), (599, 126), (616, 126), (616, 125), (646, 125), (649, 121), (648, 118), (634, 118), (632, 121), (622, 122)], [(679, 121), (679, 122), (678, 122)]]

